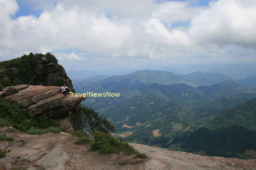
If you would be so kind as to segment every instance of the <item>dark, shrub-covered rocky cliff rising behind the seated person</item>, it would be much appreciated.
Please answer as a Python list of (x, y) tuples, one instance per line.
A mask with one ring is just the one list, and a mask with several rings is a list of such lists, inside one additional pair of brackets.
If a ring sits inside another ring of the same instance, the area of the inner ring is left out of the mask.
[(65, 83), (69, 88), (73, 88), (64, 68), (50, 53), (30, 53), (0, 62), (0, 80), (4, 87), (19, 84), (61, 86)]

